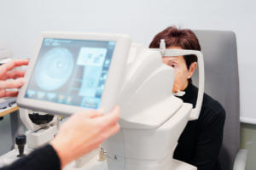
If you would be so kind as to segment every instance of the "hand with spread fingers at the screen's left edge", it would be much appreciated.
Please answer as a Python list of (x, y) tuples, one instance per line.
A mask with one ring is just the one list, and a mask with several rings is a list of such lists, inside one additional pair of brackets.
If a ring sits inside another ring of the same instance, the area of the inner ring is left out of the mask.
[[(20, 88), (24, 84), (25, 71), (13, 70), (15, 67), (28, 65), (29, 59), (15, 59), (0, 65), (0, 98), (15, 97), (18, 91), (7, 91), (6, 89)], [(7, 79), (14, 79), (8, 80)]]

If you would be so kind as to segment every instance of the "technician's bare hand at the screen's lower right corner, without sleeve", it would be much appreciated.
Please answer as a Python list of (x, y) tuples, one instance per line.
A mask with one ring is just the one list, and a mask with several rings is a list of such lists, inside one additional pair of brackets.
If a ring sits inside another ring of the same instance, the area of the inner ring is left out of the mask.
[(105, 139), (117, 133), (119, 114), (119, 107), (106, 115), (101, 110), (84, 111), (74, 114), (64, 122), (55, 139), (50, 142), (60, 157), (61, 168), (95, 150)]

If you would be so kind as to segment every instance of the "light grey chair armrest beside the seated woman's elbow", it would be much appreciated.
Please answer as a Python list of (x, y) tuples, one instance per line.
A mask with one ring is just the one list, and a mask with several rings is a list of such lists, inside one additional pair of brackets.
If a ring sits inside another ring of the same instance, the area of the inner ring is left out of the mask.
[(245, 170), (247, 163), (247, 150), (238, 150), (233, 170)]

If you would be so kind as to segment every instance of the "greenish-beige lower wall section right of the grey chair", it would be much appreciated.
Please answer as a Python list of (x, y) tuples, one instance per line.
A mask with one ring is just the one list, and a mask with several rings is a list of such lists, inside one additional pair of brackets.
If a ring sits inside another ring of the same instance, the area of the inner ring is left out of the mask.
[(248, 150), (246, 170), (256, 169), (256, 125), (241, 123), (241, 148)]

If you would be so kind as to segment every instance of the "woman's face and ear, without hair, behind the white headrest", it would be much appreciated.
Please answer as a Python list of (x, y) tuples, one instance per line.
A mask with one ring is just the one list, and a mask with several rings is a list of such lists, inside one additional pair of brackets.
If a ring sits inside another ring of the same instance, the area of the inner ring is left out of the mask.
[[(180, 47), (171, 47), (168, 49), (182, 49)], [(196, 68), (196, 62), (192, 63), (190, 65), (190, 68), (188, 70), (186, 61), (183, 58), (183, 56), (178, 57), (163, 57), (162, 58), (163, 63), (169, 66), (172, 66), (174, 69), (175, 79), (174, 79), (174, 85), (172, 88), (173, 93), (177, 93), (177, 91), (183, 91), (185, 88), (187, 88), (189, 83), (189, 78), (192, 77), (195, 68)]]

